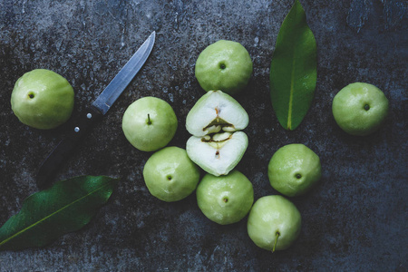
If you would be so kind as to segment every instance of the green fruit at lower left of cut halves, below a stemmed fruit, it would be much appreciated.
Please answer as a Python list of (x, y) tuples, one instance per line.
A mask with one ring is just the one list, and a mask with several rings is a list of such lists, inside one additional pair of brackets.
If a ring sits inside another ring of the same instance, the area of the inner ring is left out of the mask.
[(146, 161), (143, 178), (154, 197), (166, 201), (187, 198), (199, 183), (199, 167), (179, 147), (156, 151)]

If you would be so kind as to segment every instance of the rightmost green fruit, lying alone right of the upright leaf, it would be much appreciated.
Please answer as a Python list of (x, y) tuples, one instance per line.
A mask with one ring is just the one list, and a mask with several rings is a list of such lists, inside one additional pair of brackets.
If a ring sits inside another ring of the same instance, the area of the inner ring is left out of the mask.
[(345, 132), (365, 136), (377, 131), (388, 113), (384, 92), (369, 83), (351, 83), (335, 95), (335, 121)]

